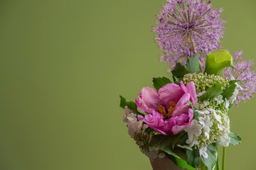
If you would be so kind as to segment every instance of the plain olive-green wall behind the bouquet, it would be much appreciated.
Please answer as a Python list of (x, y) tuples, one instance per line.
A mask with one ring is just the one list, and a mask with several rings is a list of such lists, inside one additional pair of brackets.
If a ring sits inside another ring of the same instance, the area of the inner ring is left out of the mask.
[[(151, 27), (164, 0), (0, 2), (0, 169), (151, 169), (122, 123), (168, 66)], [(255, 57), (254, 0), (215, 0), (228, 20), (223, 47)], [(255, 168), (256, 98), (230, 111), (242, 145), (226, 169)]]

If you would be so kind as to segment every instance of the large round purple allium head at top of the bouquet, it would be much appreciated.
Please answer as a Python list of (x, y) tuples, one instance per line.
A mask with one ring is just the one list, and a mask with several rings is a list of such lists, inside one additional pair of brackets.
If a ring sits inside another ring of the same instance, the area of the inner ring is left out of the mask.
[(185, 64), (188, 57), (200, 52), (203, 63), (208, 52), (220, 48), (225, 23), (220, 19), (222, 11), (213, 9), (210, 1), (168, 0), (153, 28), (155, 41), (164, 51), (160, 61), (170, 63), (173, 69), (176, 62)]

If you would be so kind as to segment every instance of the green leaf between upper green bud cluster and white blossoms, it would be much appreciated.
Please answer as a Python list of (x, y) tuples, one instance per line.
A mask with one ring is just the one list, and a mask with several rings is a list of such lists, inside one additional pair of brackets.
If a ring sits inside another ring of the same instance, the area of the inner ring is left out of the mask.
[(219, 82), (215, 83), (213, 86), (211, 86), (205, 94), (199, 97), (199, 101), (206, 101), (206, 99), (214, 98), (215, 96), (218, 96), (221, 94), (221, 85)]

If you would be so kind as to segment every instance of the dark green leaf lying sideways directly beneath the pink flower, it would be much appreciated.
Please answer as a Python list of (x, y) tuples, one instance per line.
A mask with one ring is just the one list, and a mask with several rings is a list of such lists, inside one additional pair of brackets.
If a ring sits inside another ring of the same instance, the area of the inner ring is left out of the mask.
[(172, 142), (178, 141), (182, 136), (177, 140), (178, 137), (179, 135), (154, 135), (149, 142), (149, 147), (156, 150), (162, 149)]

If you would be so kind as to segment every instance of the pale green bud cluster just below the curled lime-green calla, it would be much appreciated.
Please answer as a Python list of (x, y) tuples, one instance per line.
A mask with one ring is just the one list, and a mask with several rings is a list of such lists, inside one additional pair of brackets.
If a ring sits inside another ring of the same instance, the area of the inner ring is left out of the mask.
[(193, 81), (196, 86), (196, 92), (201, 93), (202, 91), (206, 91), (215, 83), (219, 82), (221, 85), (221, 89), (224, 90), (226, 86), (228, 86), (228, 79), (223, 79), (223, 77), (215, 76), (213, 74), (208, 75), (207, 73), (199, 73), (199, 74), (186, 74), (183, 77), (183, 84), (188, 84), (190, 81)]

